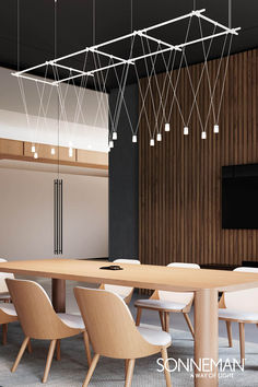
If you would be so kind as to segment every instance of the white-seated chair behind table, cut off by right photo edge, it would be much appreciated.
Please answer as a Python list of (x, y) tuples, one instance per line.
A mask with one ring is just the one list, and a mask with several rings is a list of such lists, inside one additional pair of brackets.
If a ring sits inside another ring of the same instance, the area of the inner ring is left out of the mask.
[[(258, 274), (258, 268), (241, 267), (234, 271)], [(226, 322), (228, 345), (232, 342), (231, 322), (239, 325), (241, 361), (245, 364), (245, 324), (258, 324), (258, 288), (223, 293), (219, 303), (219, 319)]]

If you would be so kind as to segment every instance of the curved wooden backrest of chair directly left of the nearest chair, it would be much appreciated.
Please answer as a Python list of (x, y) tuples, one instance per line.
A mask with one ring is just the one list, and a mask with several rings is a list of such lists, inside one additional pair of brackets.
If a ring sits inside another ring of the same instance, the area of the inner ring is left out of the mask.
[(74, 335), (57, 316), (45, 290), (36, 282), (7, 279), (17, 318), (26, 337), (54, 340)]

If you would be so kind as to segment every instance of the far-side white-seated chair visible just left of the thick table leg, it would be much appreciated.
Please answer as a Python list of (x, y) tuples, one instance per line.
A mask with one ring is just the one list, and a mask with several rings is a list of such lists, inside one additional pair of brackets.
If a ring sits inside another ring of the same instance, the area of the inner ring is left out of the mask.
[[(167, 268), (200, 269), (197, 263), (173, 262)], [(194, 293), (166, 292), (156, 290), (149, 300), (138, 300), (134, 303), (137, 310), (137, 326), (140, 325), (142, 309), (157, 310), (162, 329), (169, 332), (169, 313), (183, 313), (186, 322), (195, 337), (194, 328), (188, 316), (194, 300)]]

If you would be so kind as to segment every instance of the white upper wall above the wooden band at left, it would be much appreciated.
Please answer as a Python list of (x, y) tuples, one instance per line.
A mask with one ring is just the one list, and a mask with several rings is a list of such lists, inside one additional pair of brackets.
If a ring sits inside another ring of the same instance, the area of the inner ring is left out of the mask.
[[(26, 115), (17, 78), (11, 73), (9, 69), (0, 68), (0, 138), (57, 145), (57, 87), (21, 80)], [(72, 142), (73, 148), (107, 152), (108, 95), (67, 84), (59, 89), (63, 101), (66, 96), (63, 109), (59, 110), (59, 144), (69, 146)], [(78, 109), (78, 99), (82, 109)]]

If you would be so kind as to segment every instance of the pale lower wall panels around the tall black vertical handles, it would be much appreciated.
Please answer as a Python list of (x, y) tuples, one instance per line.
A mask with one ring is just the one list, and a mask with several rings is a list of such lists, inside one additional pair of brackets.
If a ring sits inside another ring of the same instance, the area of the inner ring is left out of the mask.
[[(0, 168), (0, 257), (54, 257), (54, 188), (48, 172)], [(63, 258), (108, 256), (108, 178), (61, 175)]]

